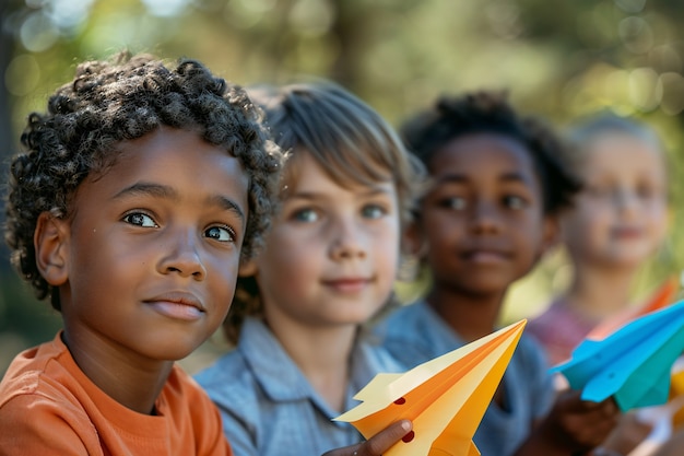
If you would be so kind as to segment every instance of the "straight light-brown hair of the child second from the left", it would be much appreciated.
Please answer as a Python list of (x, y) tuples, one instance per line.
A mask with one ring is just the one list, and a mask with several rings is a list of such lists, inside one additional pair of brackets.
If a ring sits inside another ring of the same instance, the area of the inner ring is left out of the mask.
[[(400, 222), (405, 227), (423, 190), (425, 171), (398, 133), (375, 109), (329, 81), (247, 90), (266, 113), (273, 140), (286, 152), (282, 196), (297, 180), (298, 157), (310, 156), (341, 187), (392, 179)], [(253, 277), (238, 279), (224, 332), (235, 343), (246, 316), (259, 315), (261, 303)]]

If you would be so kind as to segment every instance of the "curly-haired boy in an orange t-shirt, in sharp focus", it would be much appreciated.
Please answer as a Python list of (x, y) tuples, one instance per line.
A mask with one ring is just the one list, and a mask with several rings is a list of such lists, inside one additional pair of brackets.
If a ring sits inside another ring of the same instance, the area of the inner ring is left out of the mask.
[(63, 329), (5, 373), (0, 454), (231, 454), (174, 362), (223, 321), (278, 200), (259, 113), (198, 61), (122, 52), (28, 117), (5, 239)]

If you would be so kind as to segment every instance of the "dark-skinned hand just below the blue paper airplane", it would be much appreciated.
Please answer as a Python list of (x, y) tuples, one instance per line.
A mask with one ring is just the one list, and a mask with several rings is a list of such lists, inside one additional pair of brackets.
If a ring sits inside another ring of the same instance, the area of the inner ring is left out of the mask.
[(586, 401), (580, 391), (561, 393), (553, 409), (541, 423), (542, 439), (554, 447), (587, 452), (602, 444), (621, 417), (612, 398), (602, 402)]

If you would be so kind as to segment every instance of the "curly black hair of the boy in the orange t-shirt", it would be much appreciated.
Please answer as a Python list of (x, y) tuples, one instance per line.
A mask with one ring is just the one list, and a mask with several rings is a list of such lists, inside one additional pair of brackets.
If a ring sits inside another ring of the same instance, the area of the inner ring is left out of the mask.
[(23, 151), (10, 167), (5, 241), (12, 262), (38, 299), (58, 293), (40, 276), (33, 242), (42, 212), (69, 217), (70, 201), (91, 174), (104, 173), (117, 145), (161, 126), (199, 132), (237, 157), (249, 176), (249, 217), (241, 259), (251, 257), (278, 202), (283, 154), (261, 126), (261, 110), (238, 85), (202, 63), (180, 59), (167, 67), (151, 55), (128, 51), (78, 66), (72, 82), (33, 113), (21, 137)]

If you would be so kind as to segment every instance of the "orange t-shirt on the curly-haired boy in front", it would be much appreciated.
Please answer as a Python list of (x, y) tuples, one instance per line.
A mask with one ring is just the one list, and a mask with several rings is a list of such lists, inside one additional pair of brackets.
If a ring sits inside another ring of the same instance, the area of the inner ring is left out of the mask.
[(135, 412), (95, 386), (60, 334), (20, 353), (0, 383), (0, 455), (232, 455), (221, 418), (175, 365), (155, 402)]

